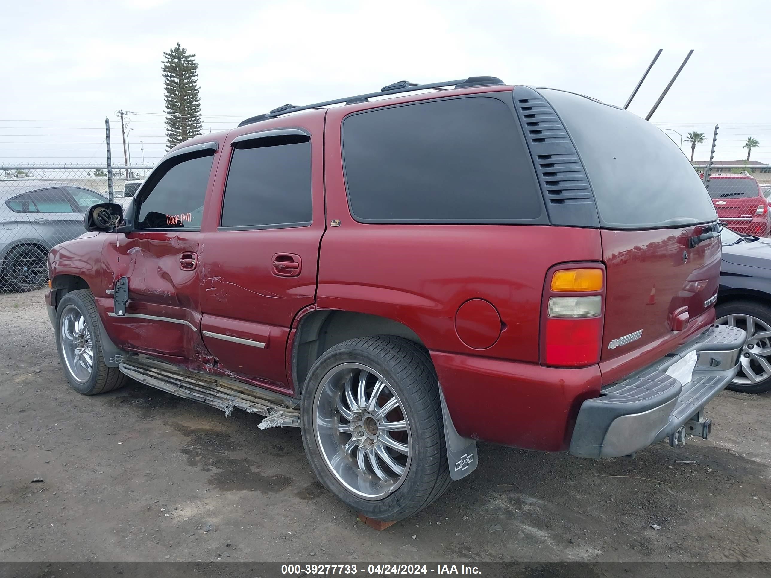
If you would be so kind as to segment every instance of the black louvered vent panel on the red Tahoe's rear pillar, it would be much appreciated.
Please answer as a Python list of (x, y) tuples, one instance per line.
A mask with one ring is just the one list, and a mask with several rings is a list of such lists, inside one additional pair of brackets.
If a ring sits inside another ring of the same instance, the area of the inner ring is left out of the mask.
[[(594, 196), (591, 193), (589, 181), (559, 116), (534, 89), (517, 86), (513, 94), (514, 106), (522, 123), (527, 146), (533, 157), (533, 164), (547, 205), (555, 208), (560, 205), (591, 206), (590, 212), (581, 210), (580, 223), (563, 222), (574, 219), (562, 218), (558, 219), (561, 222), (555, 224), (597, 226)], [(584, 209), (588, 208), (584, 207)], [(550, 216), (553, 216), (554, 210), (550, 208), (549, 212)], [(590, 218), (591, 223), (585, 222), (587, 216), (594, 217)]]

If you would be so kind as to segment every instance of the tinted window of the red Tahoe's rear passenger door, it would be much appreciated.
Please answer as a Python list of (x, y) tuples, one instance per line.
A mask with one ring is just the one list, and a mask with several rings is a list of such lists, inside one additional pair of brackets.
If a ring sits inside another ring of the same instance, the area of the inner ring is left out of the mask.
[(298, 227), (312, 220), (310, 142), (233, 150), (222, 227)]

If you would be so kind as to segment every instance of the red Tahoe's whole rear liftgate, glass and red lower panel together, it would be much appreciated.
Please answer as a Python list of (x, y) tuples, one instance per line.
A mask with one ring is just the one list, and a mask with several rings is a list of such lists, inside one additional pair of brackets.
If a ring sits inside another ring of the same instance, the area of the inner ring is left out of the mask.
[[(606, 265), (601, 359), (646, 360), (641, 349), (678, 339), (670, 321), (704, 313), (717, 291), (720, 240), (689, 247), (715, 207), (689, 160), (656, 126), (628, 111), (551, 89), (591, 183)], [(706, 304), (705, 304), (706, 303)], [(626, 339), (625, 339), (626, 338)], [(672, 347), (675, 347), (673, 343)]]

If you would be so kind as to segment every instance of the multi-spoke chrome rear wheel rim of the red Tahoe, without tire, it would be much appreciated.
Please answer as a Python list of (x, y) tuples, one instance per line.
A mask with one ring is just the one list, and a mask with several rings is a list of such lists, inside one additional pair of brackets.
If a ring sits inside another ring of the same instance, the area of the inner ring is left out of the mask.
[(314, 435), (325, 465), (362, 499), (382, 499), (402, 485), (411, 460), (409, 420), (389, 382), (360, 363), (322, 378), (313, 400)]

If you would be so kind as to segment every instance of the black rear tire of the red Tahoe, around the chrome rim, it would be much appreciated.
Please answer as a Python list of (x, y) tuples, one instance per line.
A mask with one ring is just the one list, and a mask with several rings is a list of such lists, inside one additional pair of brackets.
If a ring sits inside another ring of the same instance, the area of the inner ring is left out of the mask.
[[(322, 378), (335, 366), (355, 362), (378, 371), (402, 400), (410, 424), (412, 453), (401, 485), (382, 499), (363, 499), (345, 489), (322, 457), (314, 427), (314, 399)], [(342, 502), (383, 521), (404, 519), (428, 506), (449, 486), (439, 384), (428, 351), (405, 338), (380, 335), (343, 341), (318, 358), (305, 381), (301, 399), (305, 454), (319, 481)]]

